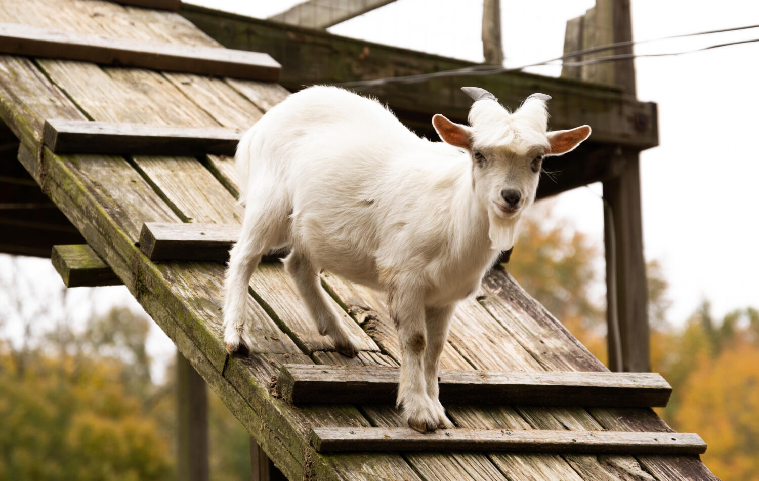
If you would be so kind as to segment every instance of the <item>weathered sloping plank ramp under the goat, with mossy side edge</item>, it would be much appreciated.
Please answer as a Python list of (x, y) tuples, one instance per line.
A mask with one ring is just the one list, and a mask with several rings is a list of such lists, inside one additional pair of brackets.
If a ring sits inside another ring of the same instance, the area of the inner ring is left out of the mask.
[[(219, 47), (171, 11), (99, 0), (0, 0), (0, 22), (124, 43)], [(195, 256), (152, 260), (140, 250), (140, 233), (151, 223), (239, 224), (243, 210), (235, 201), (238, 185), (231, 159), (213, 154), (56, 153), (43, 139), (43, 126), (52, 119), (243, 130), (283, 100), (287, 91), (265, 79), (27, 55), (0, 55), (0, 118), (20, 141), (18, 159), (288, 479), (715, 479), (697, 454), (581, 454), (563, 448), (515, 453), (490, 447), (405, 451), (408, 445), (402, 452), (317, 451), (312, 430), (320, 435), (326, 433), (320, 429), (408, 433), (398, 411), (389, 405), (293, 407), (270, 390), (272, 378), (285, 364), (397, 367), (398, 343), (383, 297), (323, 274), (333, 306), (361, 348), (357, 358), (348, 359), (318, 334), (281, 264), (261, 264), (250, 281), (248, 298), (248, 315), (255, 320), (254, 346), (247, 356), (228, 356), (221, 333), (223, 264)], [(212, 232), (205, 229), (200, 232)], [(64, 264), (76, 258), (63, 250), (59, 254)], [(606, 372), (502, 269), (489, 274), (480, 292), (461, 303), (442, 368)], [(449, 416), (459, 429), (535, 436), (543, 431), (681, 436), (673, 435), (647, 407), (449, 406)]]

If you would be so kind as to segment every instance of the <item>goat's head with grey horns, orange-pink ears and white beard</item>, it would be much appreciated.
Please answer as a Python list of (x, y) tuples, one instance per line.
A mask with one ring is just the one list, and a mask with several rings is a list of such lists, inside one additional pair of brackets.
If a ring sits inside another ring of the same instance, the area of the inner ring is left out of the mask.
[(433, 125), (443, 141), (471, 156), (474, 193), (488, 210), (490, 239), (497, 248), (508, 249), (513, 245), (515, 224), (534, 201), (543, 157), (574, 149), (591, 134), (591, 128), (547, 131), (550, 97), (543, 93), (532, 94), (512, 113), (487, 90), (461, 90), (474, 99), (471, 126), (439, 114), (433, 117)]

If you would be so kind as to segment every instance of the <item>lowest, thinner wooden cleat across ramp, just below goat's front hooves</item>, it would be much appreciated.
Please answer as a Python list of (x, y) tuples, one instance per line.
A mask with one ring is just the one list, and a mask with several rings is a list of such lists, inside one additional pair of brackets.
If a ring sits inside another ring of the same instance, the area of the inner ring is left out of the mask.
[(559, 454), (703, 454), (697, 434), (679, 432), (509, 431), (409, 428), (313, 428), (317, 452), (333, 451), (509, 451)]

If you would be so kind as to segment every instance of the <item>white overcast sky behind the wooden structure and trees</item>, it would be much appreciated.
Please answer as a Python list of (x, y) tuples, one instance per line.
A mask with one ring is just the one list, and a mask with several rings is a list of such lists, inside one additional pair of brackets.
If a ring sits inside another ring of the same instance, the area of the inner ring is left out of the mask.
[[(254, 17), (297, 3), (192, 1)], [(518, 66), (561, 55), (566, 21), (594, 2), (502, 0), (501, 5), (506, 65)], [(481, 0), (397, 0), (329, 31), (480, 62), (481, 15)], [(645, 40), (759, 24), (759, 2), (632, 0), (632, 15), (635, 40)], [(635, 52), (676, 52), (751, 38), (759, 38), (759, 29), (646, 43)], [(530, 71), (559, 74), (553, 66)], [(759, 307), (759, 155), (754, 147), (759, 43), (638, 59), (636, 71), (638, 97), (659, 104), (660, 146), (641, 153), (641, 184), (645, 255), (663, 264), (674, 302), (669, 319), (682, 323), (701, 299), (710, 299), (717, 315)], [(603, 245), (599, 194), (600, 185), (576, 189), (561, 195), (554, 208)], [(8, 262), (0, 257), (0, 267)], [(40, 286), (57, 288), (60, 280), (46, 263), (29, 259), (21, 265), (39, 276)], [(98, 309), (134, 305), (123, 287), (100, 292)], [(167, 342), (157, 336), (153, 355), (168, 352)]]

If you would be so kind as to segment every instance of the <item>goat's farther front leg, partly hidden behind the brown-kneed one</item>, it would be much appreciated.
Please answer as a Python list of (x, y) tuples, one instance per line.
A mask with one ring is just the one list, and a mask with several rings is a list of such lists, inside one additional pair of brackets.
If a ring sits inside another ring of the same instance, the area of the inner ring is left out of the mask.
[(437, 371), (442, 354), (442, 348), (448, 340), (448, 330), (456, 305), (442, 307), (427, 306), (424, 308), (424, 319), (427, 323), (427, 352), (424, 354), (424, 380), (427, 384), (427, 396), (435, 404), (438, 416), (438, 427), (447, 429), (453, 425), (446, 416), (446, 410), (438, 399), (439, 385)]

